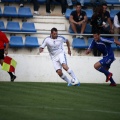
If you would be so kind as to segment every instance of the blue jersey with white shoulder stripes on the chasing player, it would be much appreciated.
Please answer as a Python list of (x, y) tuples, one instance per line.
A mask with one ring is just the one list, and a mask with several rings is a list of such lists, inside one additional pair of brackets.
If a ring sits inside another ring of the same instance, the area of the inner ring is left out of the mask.
[(88, 49), (97, 48), (103, 54), (103, 57), (114, 57), (114, 53), (111, 47), (112, 43), (114, 43), (113, 38), (100, 37), (99, 41), (93, 40)]

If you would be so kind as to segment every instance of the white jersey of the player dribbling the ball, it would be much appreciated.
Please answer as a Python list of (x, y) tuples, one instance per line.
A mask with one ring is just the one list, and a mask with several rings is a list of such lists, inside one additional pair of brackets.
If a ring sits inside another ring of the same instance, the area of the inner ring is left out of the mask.
[(49, 36), (44, 39), (44, 41), (40, 47), (45, 48), (47, 46), (49, 54), (50, 54), (51, 58), (53, 58), (62, 52), (64, 53), (64, 48), (63, 48), (64, 42), (67, 42), (67, 39), (65, 39), (63, 36), (58, 36), (56, 39), (52, 39)]

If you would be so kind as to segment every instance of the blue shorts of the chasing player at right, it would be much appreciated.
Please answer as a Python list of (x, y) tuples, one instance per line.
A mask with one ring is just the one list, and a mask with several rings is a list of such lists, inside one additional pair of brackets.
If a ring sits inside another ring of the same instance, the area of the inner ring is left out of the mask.
[(106, 68), (110, 68), (112, 62), (115, 60), (114, 57), (110, 58), (110, 57), (104, 57), (103, 59), (101, 59), (99, 62), (103, 67)]

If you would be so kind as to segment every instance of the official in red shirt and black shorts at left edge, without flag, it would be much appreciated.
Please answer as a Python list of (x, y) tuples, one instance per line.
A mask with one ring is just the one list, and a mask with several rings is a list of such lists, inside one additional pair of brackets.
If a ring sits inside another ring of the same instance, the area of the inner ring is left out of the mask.
[[(6, 44), (5, 48), (4, 48), (4, 44)], [(6, 37), (6, 35), (0, 31), (0, 64), (1, 65), (3, 64), (4, 61), (4, 54), (5, 55), (8, 54), (8, 47), (9, 47), (9, 40)], [(13, 75), (12, 72), (8, 72), (8, 73), (10, 75), (11, 82), (13, 82), (16, 79), (16, 76)]]

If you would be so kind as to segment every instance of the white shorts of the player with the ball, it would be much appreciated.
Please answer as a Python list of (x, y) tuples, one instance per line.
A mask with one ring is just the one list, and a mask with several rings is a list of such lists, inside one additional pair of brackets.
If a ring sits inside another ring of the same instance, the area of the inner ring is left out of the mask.
[(62, 64), (67, 64), (66, 55), (64, 53), (60, 53), (54, 58), (52, 58), (53, 66), (55, 70), (62, 69)]

